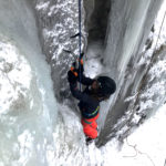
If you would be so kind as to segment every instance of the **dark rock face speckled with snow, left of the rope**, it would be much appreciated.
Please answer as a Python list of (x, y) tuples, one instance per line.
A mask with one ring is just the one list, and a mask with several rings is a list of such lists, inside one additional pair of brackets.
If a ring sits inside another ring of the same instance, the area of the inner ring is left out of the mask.
[[(54, 93), (59, 102), (64, 102), (65, 98), (71, 97), (66, 73), (79, 53), (79, 39), (70, 38), (79, 30), (77, 1), (37, 0), (34, 4), (41, 44), (46, 61), (51, 65)], [(70, 50), (73, 53), (66, 53), (63, 50)]]

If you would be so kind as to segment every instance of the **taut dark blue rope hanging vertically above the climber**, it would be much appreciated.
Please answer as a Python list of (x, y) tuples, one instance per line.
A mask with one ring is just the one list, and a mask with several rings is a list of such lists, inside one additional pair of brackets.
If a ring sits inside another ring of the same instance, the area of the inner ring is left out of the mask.
[[(79, 53), (80, 53), (80, 60), (82, 58), (81, 55), (81, 0), (79, 0)], [(80, 91), (81, 91), (81, 62), (79, 60), (79, 66), (80, 66)]]

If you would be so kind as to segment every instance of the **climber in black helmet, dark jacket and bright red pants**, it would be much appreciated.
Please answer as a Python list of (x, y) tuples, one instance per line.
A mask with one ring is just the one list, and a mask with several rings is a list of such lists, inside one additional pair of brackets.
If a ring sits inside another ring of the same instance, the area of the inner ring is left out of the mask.
[[(73, 65), (68, 72), (68, 80), (72, 95), (80, 101), (81, 123), (86, 142), (90, 142), (97, 137), (96, 120), (100, 116), (100, 102), (107, 100), (115, 92), (116, 84), (114, 80), (107, 76), (98, 76), (97, 79), (86, 77), (83, 74), (83, 60), (81, 59), (80, 62), (79, 69), (75, 69)], [(77, 82), (86, 86), (83, 92), (79, 90)]]

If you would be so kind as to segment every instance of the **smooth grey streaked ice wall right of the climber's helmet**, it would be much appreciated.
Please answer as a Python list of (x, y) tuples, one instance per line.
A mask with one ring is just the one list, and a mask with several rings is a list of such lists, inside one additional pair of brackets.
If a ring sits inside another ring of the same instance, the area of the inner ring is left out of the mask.
[(108, 75), (115, 79), (117, 91), (106, 115), (104, 129), (101, 132), (101, 142), (108, 139), (110, 133), (115, 136), (112, 126), (128, 106), (124, 100), (138, 91), (146, 68), (138, 66), (137, 63), (160, 3), (162, 0), (112, 2), (104, 64), (107, 66)]

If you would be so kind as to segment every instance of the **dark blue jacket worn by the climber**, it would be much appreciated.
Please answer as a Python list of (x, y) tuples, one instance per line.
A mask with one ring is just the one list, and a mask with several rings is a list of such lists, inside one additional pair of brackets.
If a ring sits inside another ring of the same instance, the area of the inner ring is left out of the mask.
[(86, 89), (83, 92), (77, 87), (79, 79), (77, 82), (70, 83), (72, 95), (80, 101), (79, 107), (84, 118), (95, 117), (100, 111), (100, 102), (91, 96), (90, 86), (93, 81), (94, 80), (85, 77), (83, 74), (81, 75), (81, 83), (86, 85)]

